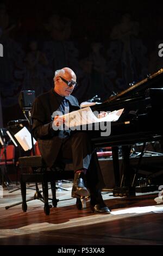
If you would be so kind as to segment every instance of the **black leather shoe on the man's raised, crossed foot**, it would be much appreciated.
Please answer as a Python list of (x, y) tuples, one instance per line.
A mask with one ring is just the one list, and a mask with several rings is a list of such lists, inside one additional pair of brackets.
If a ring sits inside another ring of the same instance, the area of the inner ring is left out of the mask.
[(84, 183), (84, 174), (82, 172), (75, 173), (71, 196), (80, 198), (87, 197), (88, 195), (89, 191), (87, 190), (86, 185)]

